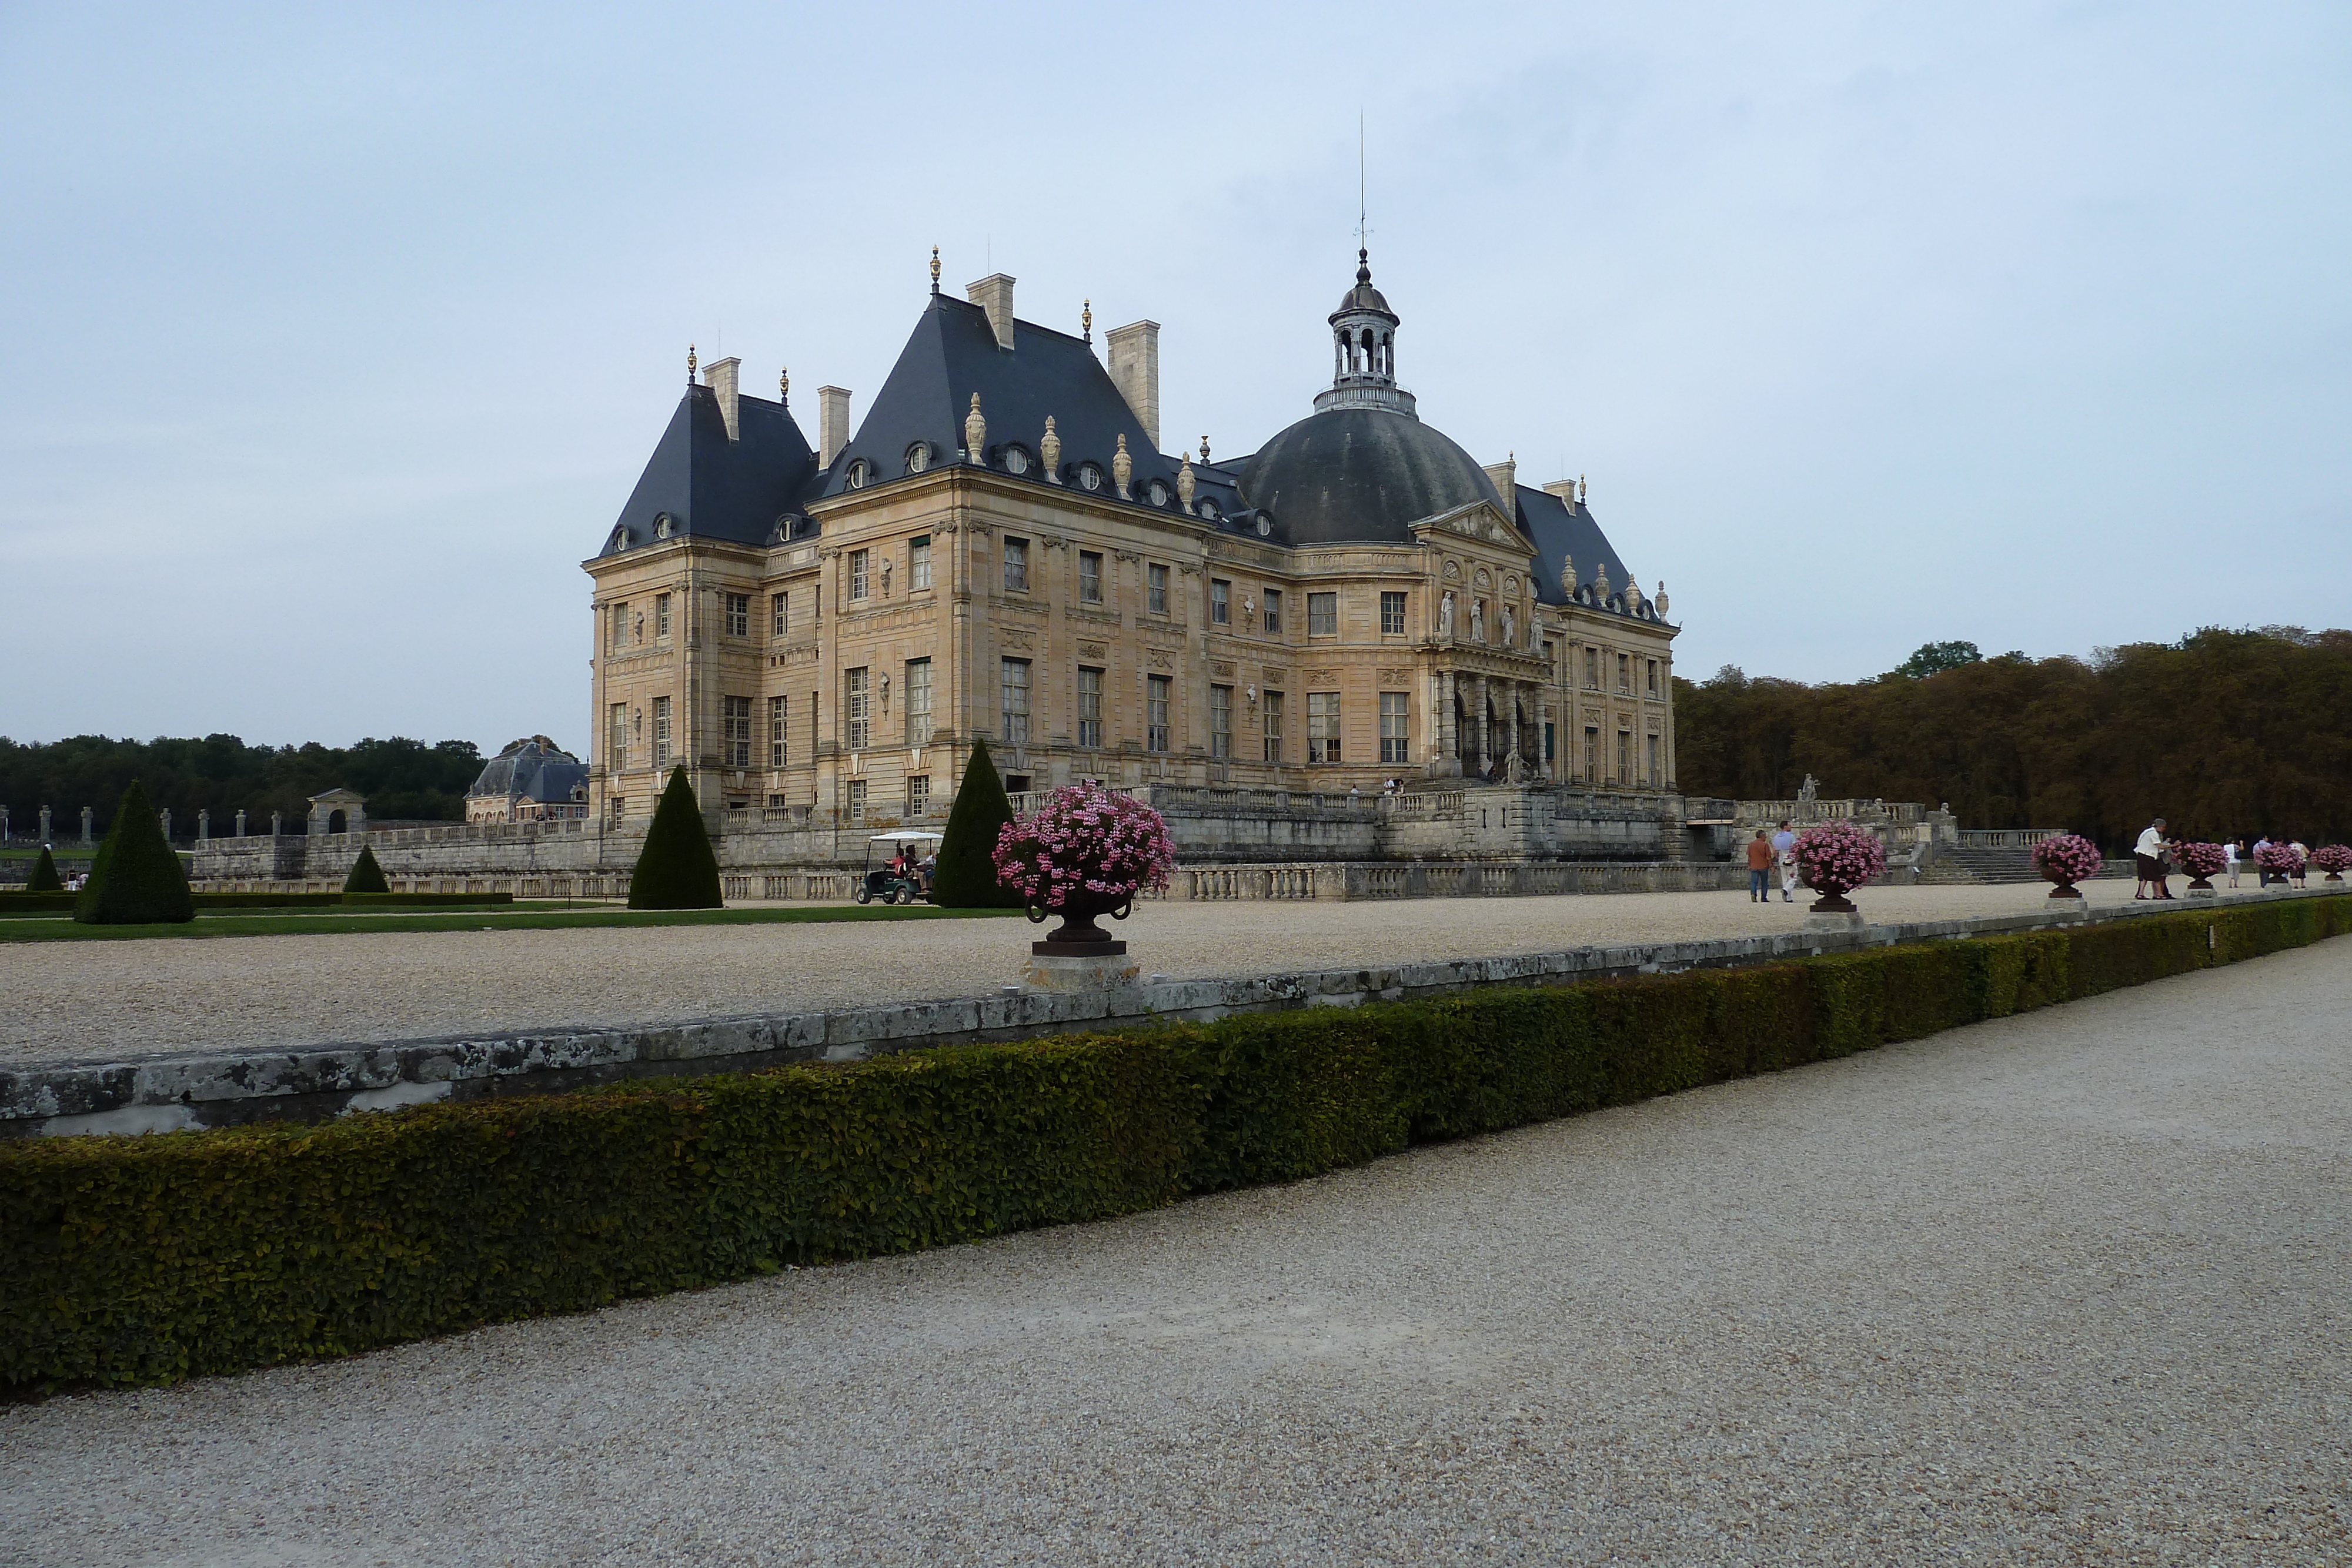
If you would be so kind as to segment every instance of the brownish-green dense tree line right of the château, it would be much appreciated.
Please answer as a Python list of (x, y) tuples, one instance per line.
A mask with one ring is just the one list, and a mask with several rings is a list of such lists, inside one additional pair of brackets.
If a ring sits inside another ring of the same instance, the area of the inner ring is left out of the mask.
[(1875, 679), (1675, 682), (1679, 785), (1950, 802), (1962, 827), (2067, 827), (2129, 849), (2263, 832), (2352, 842), (2352, 632), (2206, 628), (2089, 658), (1943, 642)]

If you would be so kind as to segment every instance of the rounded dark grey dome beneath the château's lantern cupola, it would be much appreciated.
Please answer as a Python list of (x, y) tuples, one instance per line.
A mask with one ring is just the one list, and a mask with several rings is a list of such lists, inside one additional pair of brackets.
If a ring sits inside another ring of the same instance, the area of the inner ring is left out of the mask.
[(1477, 461), (1409, 414), (1327, 409), (1265, 442), (1242, 498), (1294, 545), (1411, 543), (1406, 524), (1486, 501), (1512, 515)]

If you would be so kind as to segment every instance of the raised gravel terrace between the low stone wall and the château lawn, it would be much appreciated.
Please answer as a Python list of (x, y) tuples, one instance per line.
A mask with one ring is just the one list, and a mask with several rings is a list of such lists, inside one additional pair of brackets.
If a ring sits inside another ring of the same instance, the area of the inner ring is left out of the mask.
[[(1867, 889), (1875, 919), (2046, 905), (2042, 884)], [(2093, 903), (2131, 898), (2098, 882)], [(1788, 931), (1745, 893), (1143, 905), (1122, 936), (1174, 978), (1475, 959)], [(0, 1065), (675, 1023), (978, 997), (1018, 976), (1021, 922), (656, 926), (0, 945)]]

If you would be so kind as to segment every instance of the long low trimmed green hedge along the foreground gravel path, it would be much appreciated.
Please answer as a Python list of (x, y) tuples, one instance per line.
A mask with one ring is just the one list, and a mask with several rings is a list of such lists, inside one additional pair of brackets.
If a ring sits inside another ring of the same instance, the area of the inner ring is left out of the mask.
[(0, 1145), (0, 1385), (153, 1382), (1096, 1220), (2352, 933), (2352, 898)]

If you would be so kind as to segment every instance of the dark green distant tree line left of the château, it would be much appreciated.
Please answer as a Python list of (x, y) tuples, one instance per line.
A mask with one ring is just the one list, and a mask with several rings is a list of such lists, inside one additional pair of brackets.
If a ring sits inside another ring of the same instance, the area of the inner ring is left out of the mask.
[(0, 804), (9, 832), (40, 830), (40, 809), (54, 811), (52, 837), (78, 839), (82, 806), (96, 809), (96, 832), (113, 823), (115, 802), (134, 778), (148, 802), (172, 813), (172, 835), (193, 837), (195, 813), (212, 811), (212, 832), (235, 830), (238, 811), (247, 832), (268, 832), (270, 811), (287, 827), (310, 811), (310, 797), (334, 788), (367, 797), (369, 818), (461, 823), (466, 790), (482, 773), (473, 741), (367, 738), (355, 745), (247, 745), (238, 736), (115, 741), (71, 736), (19, 743), (0, 736)]

